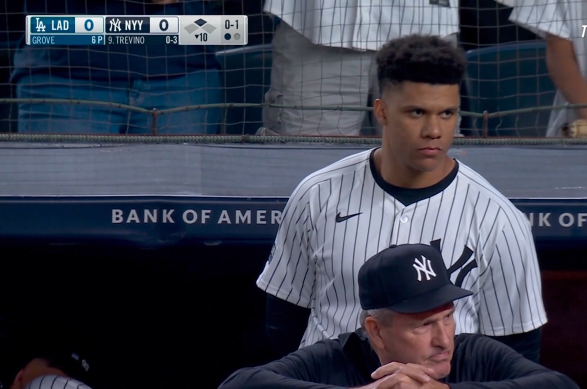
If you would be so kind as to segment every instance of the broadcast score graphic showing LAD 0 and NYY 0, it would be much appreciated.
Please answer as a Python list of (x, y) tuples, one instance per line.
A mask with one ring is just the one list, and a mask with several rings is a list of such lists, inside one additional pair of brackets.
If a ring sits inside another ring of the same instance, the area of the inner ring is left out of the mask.
[(26, 44), (246, 45), (244, 15), (28, 15)]

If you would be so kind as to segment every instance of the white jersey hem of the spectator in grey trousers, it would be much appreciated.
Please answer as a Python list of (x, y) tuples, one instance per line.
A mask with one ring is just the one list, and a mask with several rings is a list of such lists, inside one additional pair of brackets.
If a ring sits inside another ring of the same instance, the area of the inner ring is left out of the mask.
[(277, 16), (316, 45), (378, 50), (393, 38), (420, 33), (457, 33), (458, 1), (444, 0), (265, 0)]

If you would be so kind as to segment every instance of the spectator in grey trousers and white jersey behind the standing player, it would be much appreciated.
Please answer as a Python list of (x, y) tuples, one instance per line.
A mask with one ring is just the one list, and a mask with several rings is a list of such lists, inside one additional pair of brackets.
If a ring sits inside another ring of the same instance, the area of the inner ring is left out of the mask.
[[(281, 19), (266, 103), (366, 107), (369, 95), (379, 98), (374, 58), (383, 43), (412, 33), (458, 40), (457, 0), (266, 0), (264, 11)], [(265, 130), (279, 135), (356, 136), (363, 125), (379, 128), (360, 110), (264, 109)]]

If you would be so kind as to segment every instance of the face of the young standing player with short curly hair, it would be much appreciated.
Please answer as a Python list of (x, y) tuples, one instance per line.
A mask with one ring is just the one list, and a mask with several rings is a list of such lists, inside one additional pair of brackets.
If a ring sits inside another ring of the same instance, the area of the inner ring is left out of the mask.
[(458, 120), (458, 85), (404, 82), (375, 102), (384, 149), (395, 162), (431, 172), (446, 162)]

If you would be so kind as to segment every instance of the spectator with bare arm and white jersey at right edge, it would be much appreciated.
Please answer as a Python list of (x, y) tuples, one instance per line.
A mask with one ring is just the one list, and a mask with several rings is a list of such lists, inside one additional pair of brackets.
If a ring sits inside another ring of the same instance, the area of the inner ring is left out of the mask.
[[(587, 4), (579, 0), (502, 0), (510, 20), (546, 39), (546, 65), (558, 89), (554, 105), (587, 103)], [(587, 108), (552, 110), (546, 136), (562, 136), (565, 123), (587, 119)]]

